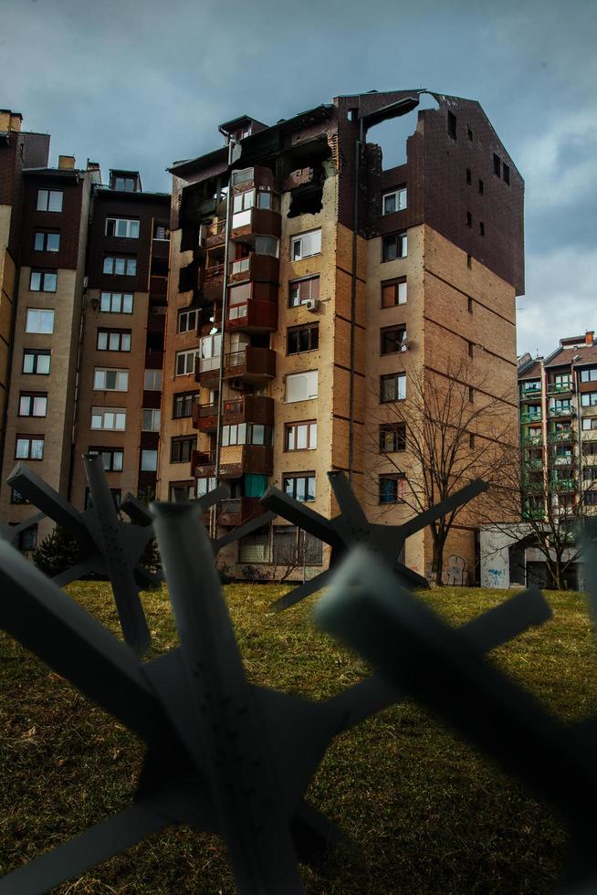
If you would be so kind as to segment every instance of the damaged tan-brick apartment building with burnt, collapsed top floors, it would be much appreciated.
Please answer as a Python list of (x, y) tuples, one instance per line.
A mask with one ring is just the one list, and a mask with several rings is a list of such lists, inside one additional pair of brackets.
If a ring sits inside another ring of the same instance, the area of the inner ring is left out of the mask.
[[(500, 401), (516, 436), (516, 166), (476, 101), (423, 90), (340, 96), (273, 126), (243, 116), (219, 130), (220, 148), (170, 169), (158, 496), (226, 482), (230, 498), (210, 518), (222, 534), (259, 513), (270, 485), (336, 514), (335, 469), (370, 519), (407, 521), (409, 437), (392, 407), (408, 402), (409, 374), (445, 376), (466, 357), (484, 389), (469, 385), (470, 401), (511, 388)], [(463, 515), (446, 545), (465, 584), (476, 535)], [(238, 577), (299, 577), (327, 551), (278, 519), (224, 560)], [(431, 553), (419, 532), (404, 561), (428, 574)]]

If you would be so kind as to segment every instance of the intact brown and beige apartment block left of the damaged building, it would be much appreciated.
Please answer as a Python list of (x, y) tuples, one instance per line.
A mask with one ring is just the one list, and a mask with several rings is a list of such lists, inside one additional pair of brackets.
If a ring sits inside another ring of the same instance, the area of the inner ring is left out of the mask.
[[(26, 137), (38, 135), (23, 134), (25, 145)], [(112, 171), (102, 186), (98, 163), (79, 169), (71, 156), (49, 168), (49, 138), (35, 144), (44, 152), (21, 152), (13, 175), (18, 226), (13, 213), (5, 239), (15, 262), (14, 275), (5, 262), (5, 281), (18, 285), (16, 302), (8, 289), (2, 298), (16, 311), (10, 325), (3, 311), (10, 375), (0, 518), (13, 523), (31, 514), (5, 485), (19, 460), (82, 509), (83, 453), (102, 456), (118, 505), (128, 491), (155, 495), (159, 447), (170, 196), (143, 193), (134, 171)], [(0, 154), (0, 164), (9, 184), (10, 160)], [(50, 528), (24, 532), (23, 549)]]

